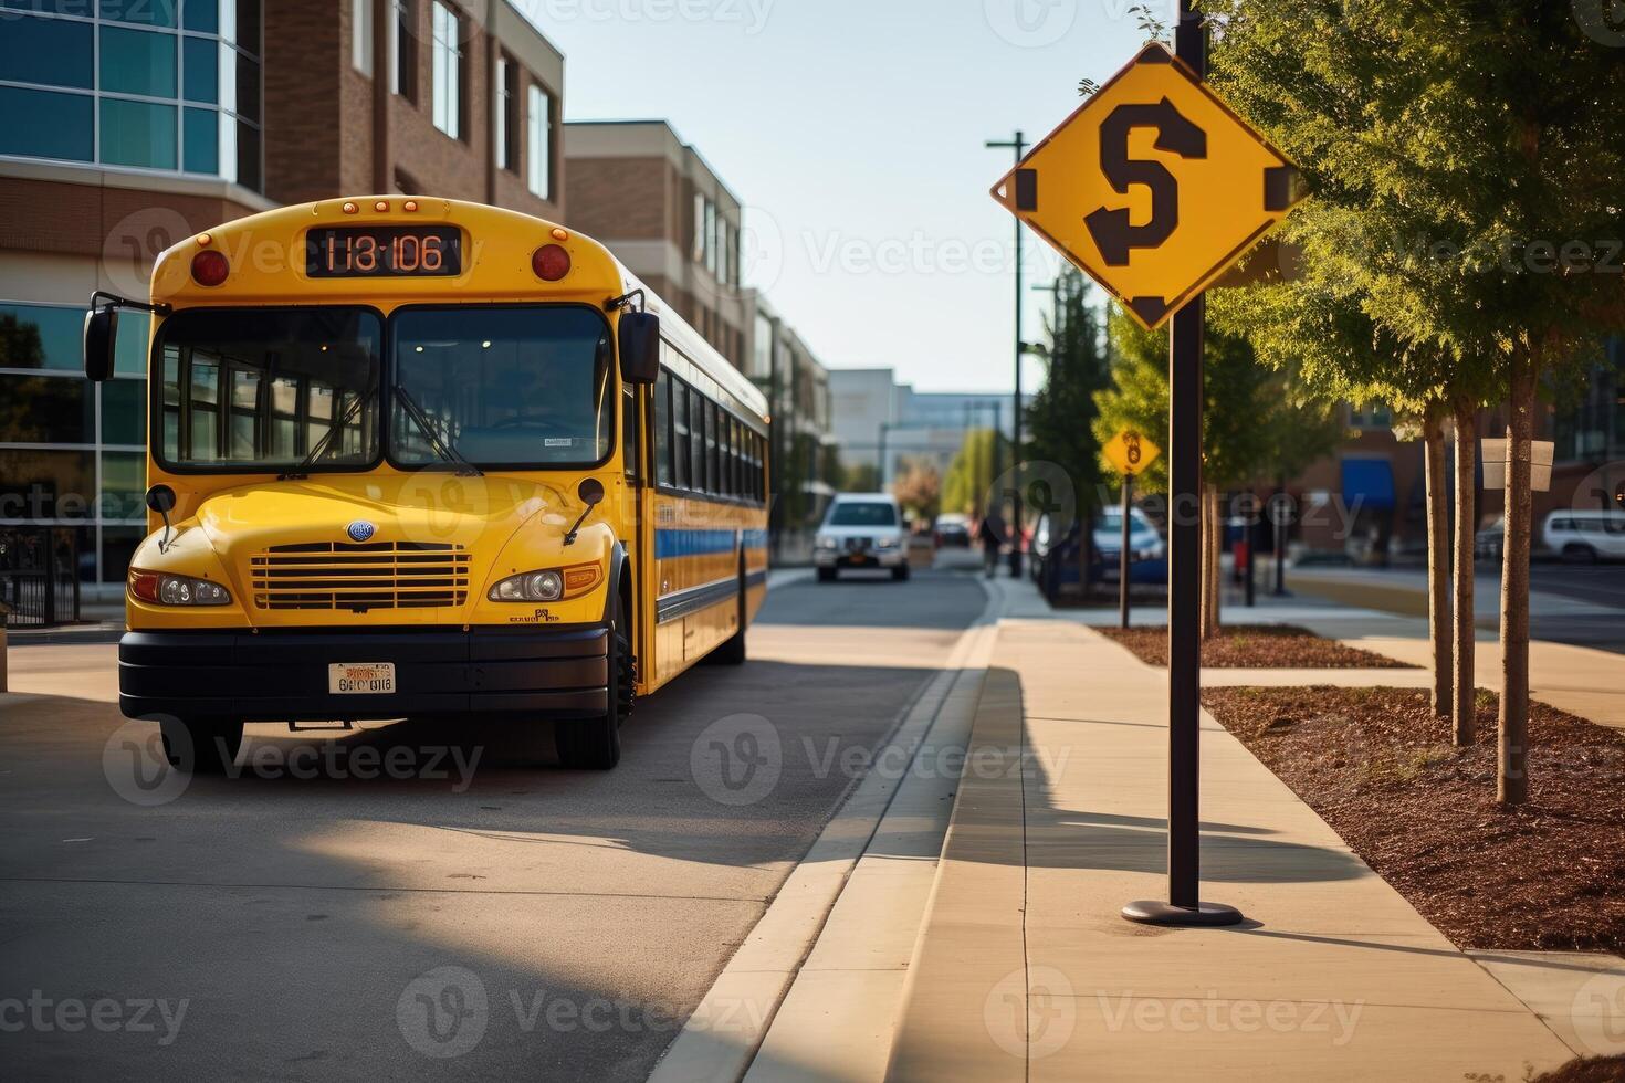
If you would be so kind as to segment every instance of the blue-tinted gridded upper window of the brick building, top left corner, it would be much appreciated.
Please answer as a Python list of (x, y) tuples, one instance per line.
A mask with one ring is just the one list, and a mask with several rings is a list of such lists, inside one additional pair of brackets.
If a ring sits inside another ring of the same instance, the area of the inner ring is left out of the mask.
[(29, 6), (0, 32), (0, 154), (260, 188), (258, 0)]

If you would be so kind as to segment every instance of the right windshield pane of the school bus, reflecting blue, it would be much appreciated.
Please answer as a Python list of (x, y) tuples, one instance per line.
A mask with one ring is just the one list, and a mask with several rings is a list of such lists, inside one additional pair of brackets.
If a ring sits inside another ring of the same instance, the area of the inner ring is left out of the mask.
[[(393, 320), (396, 466), (593, 466), (609, 456), (609, 325), (578, 305), (401, 309)], [(426, 434), (422, 421), (436, 432)], [(440, 447), (437, 447), (440, 445)]]

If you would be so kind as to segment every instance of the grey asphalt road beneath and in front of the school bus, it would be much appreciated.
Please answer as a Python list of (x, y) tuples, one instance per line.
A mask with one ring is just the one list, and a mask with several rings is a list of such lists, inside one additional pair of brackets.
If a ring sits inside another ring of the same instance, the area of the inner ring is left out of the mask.
[(640, 1080), (982, 607), (783, 586), (603, 776), (544, 727), (250, 727), (257, 766), (176, 792), (115, 648), (13, 649), (0, 1073)]

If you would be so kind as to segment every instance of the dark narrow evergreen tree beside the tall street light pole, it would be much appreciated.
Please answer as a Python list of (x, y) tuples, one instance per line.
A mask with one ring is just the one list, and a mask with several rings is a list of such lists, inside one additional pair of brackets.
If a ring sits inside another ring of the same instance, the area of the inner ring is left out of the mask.
[(1079, 515), (1098, 511), (1100, 442), (1095, 395), (1112, 386), (1102, 349), (1100, 312), (1079, 271), (1068, 270), (1048, 320), (1050, 378), (1027, 408), (1027, 461), (1055, 463), (1072, 479)]

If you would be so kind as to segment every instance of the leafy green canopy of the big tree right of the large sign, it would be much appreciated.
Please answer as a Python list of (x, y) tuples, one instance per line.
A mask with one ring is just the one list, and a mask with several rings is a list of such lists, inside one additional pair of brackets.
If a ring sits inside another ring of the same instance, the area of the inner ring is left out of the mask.
[(1315, 193), (1282, 231), (1302, 281), (1216, 297), (1266, 364), (1420, 414), (1498, 401), (1511, 357), (1586, 360), (1625, 321), (1594, 263), (1625, 208), (1625, 50), (1573, 5), (1204, 6), (1217, 89)]

